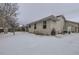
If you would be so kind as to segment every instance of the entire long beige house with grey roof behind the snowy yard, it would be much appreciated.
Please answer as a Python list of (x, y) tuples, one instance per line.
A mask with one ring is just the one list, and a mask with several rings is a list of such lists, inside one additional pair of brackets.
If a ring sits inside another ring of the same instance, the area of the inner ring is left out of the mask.
[(50, 15), (41, 20), (27, 24), (27, 29), (30, 33), (45, 35), (51, 35), (53, 30), (56, 34), (79, 32), (79, 23), (68, 21), (63, 15)]

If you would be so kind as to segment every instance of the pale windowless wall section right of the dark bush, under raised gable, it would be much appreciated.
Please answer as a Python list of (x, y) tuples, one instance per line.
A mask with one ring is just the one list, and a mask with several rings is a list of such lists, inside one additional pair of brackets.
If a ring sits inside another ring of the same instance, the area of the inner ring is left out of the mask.
[(57, 21), (56, 22), (51, 22), (51, 31), (53, 29), (56, 30), (56, 34), (58, 33), (62, 33), (64, 31), (64, 24), (65, 24), (65, 21), (64, 21), (64, 18), (62, 18), (61, 16), (60, 17), (57, 17)]

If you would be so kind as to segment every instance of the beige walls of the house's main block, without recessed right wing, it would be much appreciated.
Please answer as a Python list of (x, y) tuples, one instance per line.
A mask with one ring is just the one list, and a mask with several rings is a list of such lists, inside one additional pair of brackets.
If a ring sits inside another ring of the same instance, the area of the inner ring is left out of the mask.
[(51, 34), (51, 31), (53, 29), (56, 30), (56, 33), (61, 33), (63, 31), (64, 21), (60, 20), (57, 22), (54, 22), (52, 20), (48, 20), (47, 22), (47, 28), (43, 29), (43, 21), (36, 23), (36, 29), (34, 29), (34, 24), (31, 25), (31, 28), (29, 28), (29, 32), (31, 33), (39, 33), (39, 34)]

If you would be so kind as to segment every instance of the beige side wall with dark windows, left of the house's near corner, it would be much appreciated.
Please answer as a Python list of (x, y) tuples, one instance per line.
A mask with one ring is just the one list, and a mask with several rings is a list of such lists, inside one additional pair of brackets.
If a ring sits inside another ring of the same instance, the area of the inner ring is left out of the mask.
[(46, 21), (46, 29), (43, 28), (43, 21), (36, 23), (36, 29), (34, 29), (34, 24), (31, 24), (31, 28), (29, 28), (29, 32), (37, 33), (37, 34), (50, 34), (50, 23), (51, 20)]

